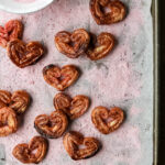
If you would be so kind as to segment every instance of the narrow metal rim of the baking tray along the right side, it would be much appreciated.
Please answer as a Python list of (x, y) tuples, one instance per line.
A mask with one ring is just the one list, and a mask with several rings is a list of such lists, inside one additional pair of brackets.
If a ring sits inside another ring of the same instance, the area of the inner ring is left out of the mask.
[(158, 87), (160, 87), (160, 76), (158, 76), (158, 67), (160, 67), (160, 25), (158, 25), (158, 1), (153, 0), (152, 3), (152, 15), (153, 15), (153, 38), (154, 38), (154, 130), (153, 130), (153, 164), (158, 165)]

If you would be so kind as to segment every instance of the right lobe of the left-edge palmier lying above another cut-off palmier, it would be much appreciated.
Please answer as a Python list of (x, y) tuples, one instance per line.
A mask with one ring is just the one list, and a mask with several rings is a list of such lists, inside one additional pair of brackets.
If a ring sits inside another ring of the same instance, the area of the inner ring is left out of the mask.
[(10, 108), (18, 114), (24, 113), (30, 105), (30, 95), (26, 91), (18, 90), (12, 94)]

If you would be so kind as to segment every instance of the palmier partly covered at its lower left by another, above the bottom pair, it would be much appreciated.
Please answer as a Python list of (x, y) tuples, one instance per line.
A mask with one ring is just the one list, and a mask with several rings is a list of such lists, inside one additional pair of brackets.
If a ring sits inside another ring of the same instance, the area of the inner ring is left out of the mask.
[(78, 95), (73, 99), (59, 92), (54, 98), (54, 106), (57, 110), (63, 110), (72, 120), (82, 116), (89, 108), (89, 98)]

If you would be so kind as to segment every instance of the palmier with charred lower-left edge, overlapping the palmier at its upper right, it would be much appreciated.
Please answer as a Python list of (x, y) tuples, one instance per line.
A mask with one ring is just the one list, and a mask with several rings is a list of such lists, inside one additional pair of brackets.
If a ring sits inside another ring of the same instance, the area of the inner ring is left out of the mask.
[(68, 125), (67, 117), (62, 111), (54, 111), (51, 116), (41, 114), (35, 118), (34, 128), (36, 131), (50, 139), (57, 139), (63, 135)]

